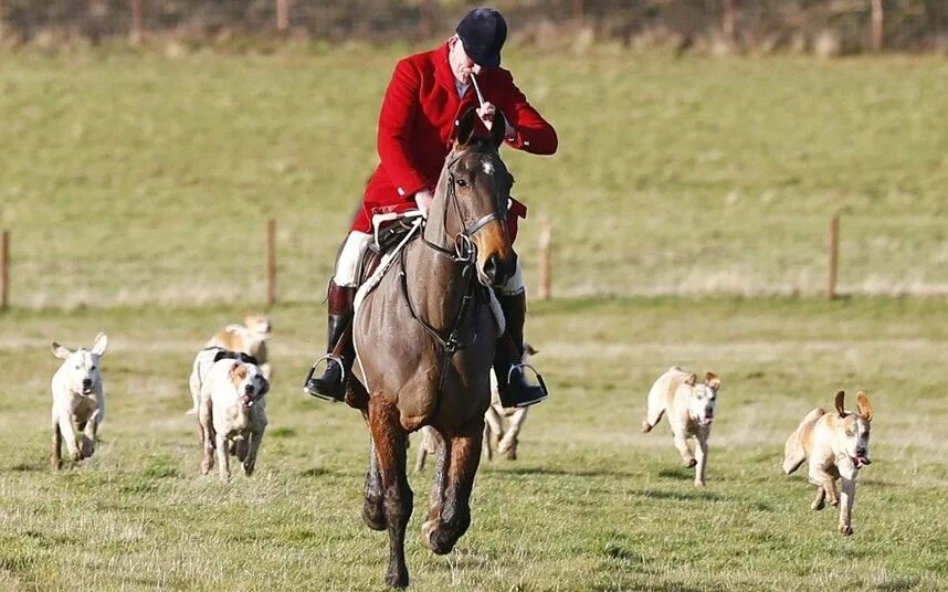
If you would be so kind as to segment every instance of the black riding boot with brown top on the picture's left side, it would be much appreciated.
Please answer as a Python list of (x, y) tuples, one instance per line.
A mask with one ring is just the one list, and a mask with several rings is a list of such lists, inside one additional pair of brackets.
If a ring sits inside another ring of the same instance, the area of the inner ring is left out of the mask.
[[(327, 401), (343, 401), (346, 398), (346, 379), (352, 370), (356, 350), (352, 346), (352, 299), (355, 287), (337, 286), (329, 282), (329, 328), (326, 335), (326, 370), (322, 377), (314, 377), (310, 369), (303, 390)], [(318, 363), (318, 361), (317, 361)], [(315, 364), (314, 364), (315, 368)]]

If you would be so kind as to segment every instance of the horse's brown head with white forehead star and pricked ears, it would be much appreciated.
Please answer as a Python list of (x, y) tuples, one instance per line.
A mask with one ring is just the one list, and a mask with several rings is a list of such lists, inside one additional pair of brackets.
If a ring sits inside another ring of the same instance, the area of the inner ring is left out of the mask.
[(497, 148), (506, 124), (497, 112), (491, 137), (473, 136), (476, 121), (468, 109), (457, 124), (454, 147), (445, 159), (432, 212), (440, 211), (447, 236), (477, 253), (477, 278), (488, 287), (503, 285), (516, 271), (517, 255), (507, 233), (507, 200), (513, 177)]

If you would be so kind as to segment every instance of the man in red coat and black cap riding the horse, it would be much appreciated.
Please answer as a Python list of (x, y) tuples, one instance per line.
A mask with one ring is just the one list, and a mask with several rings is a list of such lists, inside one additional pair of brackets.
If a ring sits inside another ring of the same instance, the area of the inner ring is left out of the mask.
[[(499, 67), (501, 49), (506, 39), (504, 17), (496, 10), (478, 8), (461, 20), (444, 44), (405, 57), (396, 65), (379, 114), (381, 163), (369, 180), (362, 207), (343, 244), (336, 274), (329, 282), (327, 340), (330, 356), (323, 376), (310, 378), (304, 387), (309, 394), (333, 400), (344, 398), (344, 377), (351, 370), (355, 351), (351, 339), (339, 341), (352, 319), (359, 266), (372, 240), (372, 215), (414, 208), (426, 213), (451, 150), (455, 120), (461, 114), (476, 107), (478, 128), (486, 134), (499, 109), (506, 120), (505, 144), (536, 155), (556, 151), (556, 130), (527, 102), (510, 73)], [(526, 208), (513, 202), (508, 216), (512, 241), (516, 236), (517, 216), (526, 218)], [(545, 398), (544, 390), (529, 384), (522, 368), (516, 366), (523, 359), (526, 316), (519, 263), (516, 273), (495, 289), (495, 294), (507, 326), (507, 334), (498, 340), (494, 357), (501, 401), (505, 406), (537, 403)]]

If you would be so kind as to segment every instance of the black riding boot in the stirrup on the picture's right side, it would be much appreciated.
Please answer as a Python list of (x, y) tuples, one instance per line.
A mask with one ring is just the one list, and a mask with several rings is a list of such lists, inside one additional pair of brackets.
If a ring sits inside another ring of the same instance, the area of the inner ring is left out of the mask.
[(527, 296), (496, 293), (507, 324), (506, 332), (497, 340), (494, 352), (494, 372), (501, 404), (505, 408), (525, 408), (545, 400), (548, 395), (543, 378), (539, 384), (530, 384), (524, 378), (524, 321), (527, 316)]

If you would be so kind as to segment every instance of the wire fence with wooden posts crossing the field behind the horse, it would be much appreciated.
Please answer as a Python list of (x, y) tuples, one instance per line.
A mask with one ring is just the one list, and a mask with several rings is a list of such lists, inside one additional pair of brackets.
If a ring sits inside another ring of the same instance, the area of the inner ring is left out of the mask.
[[(568, 220), (546, 219), (524, 224), (516, 245), (534, 299), (948, 296), (948, 230), (938, 220), (778, 218), (704, 236), (696, 241), (697, 251), (684, 242), (655, 245), (646, 236), (634, 239), (633, 229), (620, 229), (614, 234), (623, 237), (624, 247), (591, 257), (570, 249)], [(12, 229), (3, 233), (0, 253), (0, 307), (322, 302), (333, 273), (335, 239), (345, 232), (330, 237), (314, 235), (298, 220), (257, 222), (166, 241), (160, 246), (173, 255), (165, 257), (126, 250), (66, 258), (49, 247), (62, 228)], [(170, 232), (154, 229), (156, 235)], [(240, 236), (239, 256), (208, 246), (229, 234)], [(144, 231), (136, 235), (149, 242)]]

